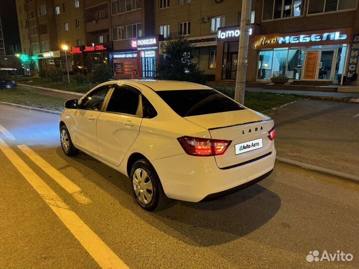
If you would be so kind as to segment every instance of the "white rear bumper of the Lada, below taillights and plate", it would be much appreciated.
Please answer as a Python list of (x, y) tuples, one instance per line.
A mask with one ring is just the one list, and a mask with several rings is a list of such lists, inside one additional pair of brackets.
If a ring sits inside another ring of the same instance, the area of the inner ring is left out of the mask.
[(274, 168), (275, 157), (273, 146), (270, 155), (229, 169), (218, 168), (214, 157), (196, 157), (185, 153), (151, 163), (168, 197), (199, 202), (204, 198), (213, 199), (228, 190), (233, 191), (236, 187), (247, 187), (243, 184), (258, 178), (265, 178)]

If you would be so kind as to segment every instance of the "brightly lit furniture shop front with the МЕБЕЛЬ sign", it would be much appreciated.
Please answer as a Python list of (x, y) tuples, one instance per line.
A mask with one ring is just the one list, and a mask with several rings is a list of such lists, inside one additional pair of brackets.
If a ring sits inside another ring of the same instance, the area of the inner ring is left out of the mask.
[[(287, 77), (290, 81), (340, 84), (347, 65), (352, 28), (337, 28), (289, 34), (259, 35), (251, 39), (249, 81)], [(252, 71), (252, 72), (251, 72)], [(254, 71), (254, 72), (253, 72)]]

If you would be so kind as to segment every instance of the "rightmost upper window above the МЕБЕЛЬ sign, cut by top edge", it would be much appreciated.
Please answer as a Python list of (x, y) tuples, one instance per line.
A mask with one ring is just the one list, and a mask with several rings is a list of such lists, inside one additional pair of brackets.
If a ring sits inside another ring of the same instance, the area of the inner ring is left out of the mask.
[(310, 0), (308, 14), (357, 8), (357, 0)]

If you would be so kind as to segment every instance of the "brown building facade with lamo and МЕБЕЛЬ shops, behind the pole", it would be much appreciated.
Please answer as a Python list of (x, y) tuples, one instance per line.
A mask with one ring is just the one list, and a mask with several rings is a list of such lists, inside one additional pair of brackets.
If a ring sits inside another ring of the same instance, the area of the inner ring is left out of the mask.
[[(279, 76), (292, 83), (341, 84), (358, 72), (357, 0), (256, 0), (251, 28), (249, 82)], [(217, 34), (216, 80), (233, 79), (239, 26)]]

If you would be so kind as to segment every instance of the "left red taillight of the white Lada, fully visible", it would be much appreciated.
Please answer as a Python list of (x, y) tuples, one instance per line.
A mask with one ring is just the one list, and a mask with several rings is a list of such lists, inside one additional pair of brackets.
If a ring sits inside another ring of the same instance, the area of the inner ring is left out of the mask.
[(214, 156), (222, 155), (232, 141), (209, 138), (182, 136), (177, 138), (188, 155)]

